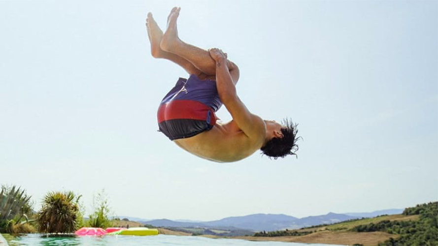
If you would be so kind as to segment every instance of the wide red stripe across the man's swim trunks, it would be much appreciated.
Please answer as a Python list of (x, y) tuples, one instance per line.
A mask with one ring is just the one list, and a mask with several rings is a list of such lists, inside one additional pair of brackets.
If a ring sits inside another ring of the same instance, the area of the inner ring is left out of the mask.
[(208, 111), (211, 111), (211, 120), (213, 120), (213, 111), (210, 107), (201, 102), (193, 100), (172, 100), (168, 103), (161, 104), (158, 108), (158, 123), (176, 119), (205, 121)]

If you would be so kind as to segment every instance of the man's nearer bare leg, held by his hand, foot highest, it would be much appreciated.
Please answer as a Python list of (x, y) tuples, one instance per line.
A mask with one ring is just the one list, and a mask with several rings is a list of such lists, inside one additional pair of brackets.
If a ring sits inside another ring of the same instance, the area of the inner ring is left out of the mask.
[(180, 8), (174, 7), (168, 17), (168, 29), (161, 40), (161, 49), (191, 62), (195, 67), (207, 75), (216, 74), (216, 62), (210, 57), (208, 51), (184, 43), (178, 37), (176, 20)]

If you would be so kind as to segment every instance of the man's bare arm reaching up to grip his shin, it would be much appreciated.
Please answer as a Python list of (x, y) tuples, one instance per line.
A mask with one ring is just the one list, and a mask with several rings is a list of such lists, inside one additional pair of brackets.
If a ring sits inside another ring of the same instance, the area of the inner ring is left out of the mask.
[(225, 55), (218, 49), (211, 49), (210, 55), (216, 61), (216, 87), (221, 101), (245, 135), (263, 143), (266, 135), (265, 123), (260, 117), (251, 114), (237, 96)]

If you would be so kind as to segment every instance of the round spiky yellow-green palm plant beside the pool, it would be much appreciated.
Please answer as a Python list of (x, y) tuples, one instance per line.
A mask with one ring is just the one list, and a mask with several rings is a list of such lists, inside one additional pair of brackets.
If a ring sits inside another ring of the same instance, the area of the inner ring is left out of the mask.
[(39, 231), (43, 233), (68, 233), (77, 229), (79, 198), (71, 191), (49, 192), (38, 213)]

